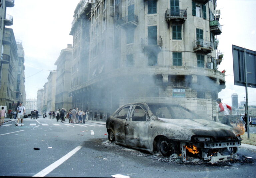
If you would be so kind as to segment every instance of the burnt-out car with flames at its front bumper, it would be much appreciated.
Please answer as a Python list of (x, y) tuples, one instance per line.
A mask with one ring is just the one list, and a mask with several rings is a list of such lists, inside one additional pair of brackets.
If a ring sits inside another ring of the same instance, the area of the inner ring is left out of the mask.
[(210, 162), (227, 160), (241, 144), (233, 128), (200, 118), (177, 104), (129, 103), (106, 120), (108, 139), (119, 145), (169, 157), (176, 153)]

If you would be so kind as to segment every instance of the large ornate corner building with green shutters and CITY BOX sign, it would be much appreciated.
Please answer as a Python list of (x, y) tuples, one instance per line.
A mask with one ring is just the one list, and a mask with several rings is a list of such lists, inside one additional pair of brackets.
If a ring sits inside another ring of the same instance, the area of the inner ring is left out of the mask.
[(78, 3), (70, 32), (73, 107), (106, 119), (127, 102), (178, 103), (216, 118), (216, 0), (91, 2)]

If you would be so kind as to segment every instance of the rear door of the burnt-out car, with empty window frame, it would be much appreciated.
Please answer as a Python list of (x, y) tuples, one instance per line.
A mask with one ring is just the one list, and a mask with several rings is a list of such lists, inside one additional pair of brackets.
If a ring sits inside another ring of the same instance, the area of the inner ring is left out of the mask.
[(124, 106), (114, 115), (113, 119), (110, 120), (110, 125), (114, 130), (116, 142), (125, 144), (125, 122), (128, 120), (131, 106)]

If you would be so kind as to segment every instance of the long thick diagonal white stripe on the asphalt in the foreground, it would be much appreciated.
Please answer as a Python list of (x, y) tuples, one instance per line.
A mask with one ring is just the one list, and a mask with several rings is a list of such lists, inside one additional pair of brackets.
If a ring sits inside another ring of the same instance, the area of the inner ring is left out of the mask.
[(68, 158), (70, 158), (73, 154), (75, 154), (78, 150), (80, 150), (82, 146), (78, 146), (72, 151), (70, 151), (68, 154), (60, 158), (58, 161), (52, 163), (50, 166), (46, 167), (42, 171), (38, 172), (37, 174), (33, 175), (33, 177), (44, 177), (47, 174), (49, 174), (51, 171), (53, 171), (55, 168), (57, 168), (59, 165), (64, 163)]

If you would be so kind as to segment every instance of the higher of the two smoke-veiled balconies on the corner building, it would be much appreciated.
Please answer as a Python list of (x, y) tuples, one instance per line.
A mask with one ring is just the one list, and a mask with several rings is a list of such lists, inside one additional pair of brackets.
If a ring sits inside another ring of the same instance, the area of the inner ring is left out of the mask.
[(138, 16), (130, 14), (117, 20), (117, 25), (122, 28), (136, 28), (138, 26)]

